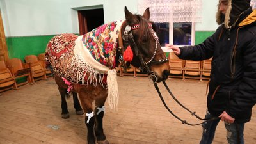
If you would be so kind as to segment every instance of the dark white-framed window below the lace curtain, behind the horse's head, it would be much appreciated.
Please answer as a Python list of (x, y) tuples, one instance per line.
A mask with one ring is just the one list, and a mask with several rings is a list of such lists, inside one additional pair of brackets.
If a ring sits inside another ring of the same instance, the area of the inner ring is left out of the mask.
[(164, 44), (173, 45), (194, 45), (195, 23), (193, 22), (156, 22), (157, 36), (163, 47)]

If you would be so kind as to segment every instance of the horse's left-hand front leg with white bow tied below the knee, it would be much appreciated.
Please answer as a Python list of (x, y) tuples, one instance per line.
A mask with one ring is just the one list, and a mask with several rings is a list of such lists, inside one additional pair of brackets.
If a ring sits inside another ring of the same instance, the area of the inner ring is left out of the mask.
[(93, 108), (92, 108), (92, 102), (93, 102), (93, 97), (92, 93), (89, 91), (86, 92), (85, 90), (81, 90), (79, 93), (79, 100), (81, 103), (81, 106), (83, 108), (83, 111), (85, 113), (85, 124), (87, 127), (87, 142), (88, 144), (95, 144), (95, 136), (94, 136), (94, 124), (95, 124), (95, 117), (93, 113)]

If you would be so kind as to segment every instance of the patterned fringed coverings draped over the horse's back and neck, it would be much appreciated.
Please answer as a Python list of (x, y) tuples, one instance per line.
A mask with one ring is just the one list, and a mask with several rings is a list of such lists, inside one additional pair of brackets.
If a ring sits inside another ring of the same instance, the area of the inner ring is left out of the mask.
[(81, 36), (54, 36), (45, 51), (45, 59), (51, 63), (54, 74), (72, 83), (93, 86), (99, 83), (108, 88), (108, 100), (114, 104), (118, 97), (116, 49), (123, 22), (109, 22)]

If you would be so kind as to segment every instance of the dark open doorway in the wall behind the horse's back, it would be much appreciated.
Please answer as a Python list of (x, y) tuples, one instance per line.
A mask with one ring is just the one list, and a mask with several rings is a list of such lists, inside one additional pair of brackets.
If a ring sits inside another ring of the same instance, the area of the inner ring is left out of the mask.
[(88, 31), (104, 24), (103, 8), (93, 10), (78, 10), (79, 35), (84, 35)]

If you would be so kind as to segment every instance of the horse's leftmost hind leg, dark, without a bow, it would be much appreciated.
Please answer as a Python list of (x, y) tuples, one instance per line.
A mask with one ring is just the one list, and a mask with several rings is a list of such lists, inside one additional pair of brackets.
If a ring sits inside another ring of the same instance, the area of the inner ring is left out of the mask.
[(66, 95), (67, 95), (67, 89), (62, 88), (61, 86), (59, 86), (59, 92), (61, 95), (61, 118), (69, 118), (69, 114), (68, 114), (68, 105), (66, 102)]

